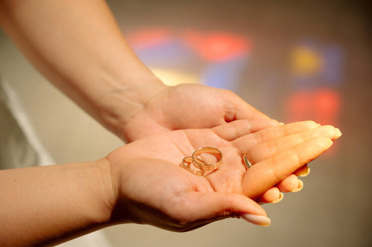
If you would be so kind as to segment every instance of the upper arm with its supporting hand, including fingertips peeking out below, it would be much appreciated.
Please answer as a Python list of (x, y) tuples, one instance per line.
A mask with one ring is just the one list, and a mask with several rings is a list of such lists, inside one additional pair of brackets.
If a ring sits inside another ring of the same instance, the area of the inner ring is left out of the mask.
[[(127, 45), (103, 0), (0, 0), (0, 25), (51, 83), (126, 142), (269, 119), (231, 91), (165, 86)], [(268, 126), (273, 125), (279, 122)], [(294, 176), (285, 180), (297, 189)], [(280, 197), (276, 188), (267, 193), (261, 202)]]

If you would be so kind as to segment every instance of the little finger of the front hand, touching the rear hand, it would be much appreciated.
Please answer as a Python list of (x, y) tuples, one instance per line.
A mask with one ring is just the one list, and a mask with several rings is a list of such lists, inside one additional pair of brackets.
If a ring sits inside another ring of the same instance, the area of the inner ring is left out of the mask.
[(212, 131), (222, 139), (232, 141), (241, 136), (279, 125), (280, 123), (274, 119), (253, 118), (222, 124), (212, 128)]

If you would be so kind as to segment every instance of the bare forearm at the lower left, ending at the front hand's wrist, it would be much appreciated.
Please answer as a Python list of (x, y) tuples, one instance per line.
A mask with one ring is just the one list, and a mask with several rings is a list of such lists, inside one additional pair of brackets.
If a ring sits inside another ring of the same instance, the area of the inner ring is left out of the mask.
[(0, 171), (1, 246), (49, 245), (107, 226), (108, 161)]

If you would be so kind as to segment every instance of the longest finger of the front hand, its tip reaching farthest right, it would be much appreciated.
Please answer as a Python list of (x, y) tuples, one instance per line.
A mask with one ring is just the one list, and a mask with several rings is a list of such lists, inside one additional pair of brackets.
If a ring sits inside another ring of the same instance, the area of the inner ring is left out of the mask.
[(295, 147), (314, 137), (329, 137), (331, 140), (341, 136), (341, 132), (333, 126), (326, 125), (304, 132), (292, 134), (279, 139), (259, 143), (247, 152), (248, 160), (254, 164), (265, 160), (281, 151)]

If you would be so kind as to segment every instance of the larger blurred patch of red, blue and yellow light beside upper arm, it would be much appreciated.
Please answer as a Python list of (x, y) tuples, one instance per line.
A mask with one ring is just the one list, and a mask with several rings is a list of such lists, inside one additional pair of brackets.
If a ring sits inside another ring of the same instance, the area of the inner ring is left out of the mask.
[[(139, 59), (168, 85), (200, 81), (177, 69), (190, 67), (197, 61), (197, 55), (209, 63), (202, 73), (204, 84), (236, 91), (250, 50), (246, 38), (228, 33), (203, 34), (188, 30), (180, 37), (169, 29), (151, 29), (128, 37)], [(173, 69), (168, 69), (170, 67)]]

